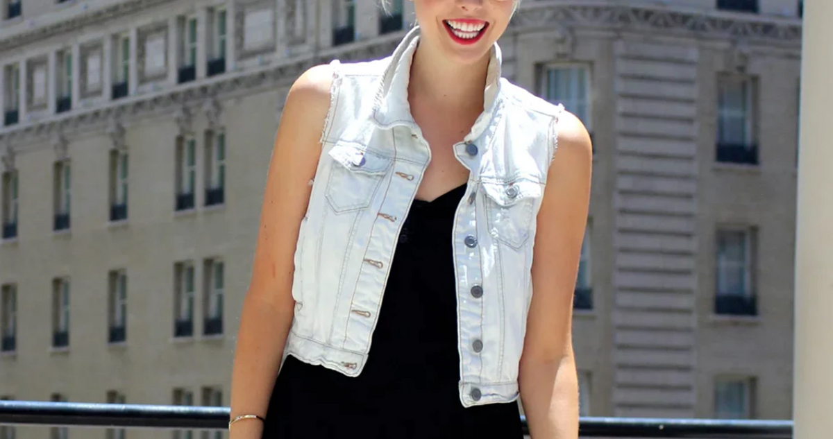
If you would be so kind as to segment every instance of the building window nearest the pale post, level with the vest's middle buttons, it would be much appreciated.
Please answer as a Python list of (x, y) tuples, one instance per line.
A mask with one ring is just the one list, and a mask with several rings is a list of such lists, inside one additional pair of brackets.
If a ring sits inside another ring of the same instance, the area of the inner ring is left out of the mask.
[(717, 231), (716, 303), (718, 314), (757, 315), (753, 256), (755, 229)]

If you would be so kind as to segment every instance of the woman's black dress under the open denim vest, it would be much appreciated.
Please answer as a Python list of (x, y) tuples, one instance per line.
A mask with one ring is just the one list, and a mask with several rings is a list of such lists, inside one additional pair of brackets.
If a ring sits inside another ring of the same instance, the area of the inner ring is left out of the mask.
[(519, 439), (516, 402), (463, 407), (451, 230), (466, 185), (414, 200), (358, 377), (288, 356), (263, 439)]

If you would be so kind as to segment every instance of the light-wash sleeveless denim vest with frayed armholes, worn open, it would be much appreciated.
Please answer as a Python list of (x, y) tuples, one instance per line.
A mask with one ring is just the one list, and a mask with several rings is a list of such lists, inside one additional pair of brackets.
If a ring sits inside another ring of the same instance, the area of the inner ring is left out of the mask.
[[(415, 27), (391, 57), (332, 62), (332, 103), (295, 252), (295, 318), (284, 359), (355, 377), (372, 355), (402, 221), (431, 160), (407, 101), (418, 39)], [(502, 79), (497, 44), (486, 84), (485, 111), (452, 146), (470, 171), (449, 248), (465, 407), (518, 396), (536, 215), (563, 109)]]

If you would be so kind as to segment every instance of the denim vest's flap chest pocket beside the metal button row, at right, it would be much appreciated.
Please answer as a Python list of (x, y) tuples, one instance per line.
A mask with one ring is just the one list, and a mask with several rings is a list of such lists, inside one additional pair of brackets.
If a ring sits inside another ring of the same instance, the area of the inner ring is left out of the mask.
[(486, 192), (489, 234), (512, 249), (521, 249), (529, 239), (536, 201), (543, 185), (533, 180), (508, 183), (482, 182)]

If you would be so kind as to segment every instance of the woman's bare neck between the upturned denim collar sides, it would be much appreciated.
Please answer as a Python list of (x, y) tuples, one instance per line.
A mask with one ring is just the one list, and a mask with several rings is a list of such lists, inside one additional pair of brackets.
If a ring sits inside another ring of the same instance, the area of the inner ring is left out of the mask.
[(473, 65), (444, 60), (438, 51), (419, 42), (411, 65), (408, 95), (447, 110), (483, 110), (483, 91), (491, 52)]

